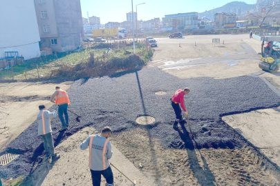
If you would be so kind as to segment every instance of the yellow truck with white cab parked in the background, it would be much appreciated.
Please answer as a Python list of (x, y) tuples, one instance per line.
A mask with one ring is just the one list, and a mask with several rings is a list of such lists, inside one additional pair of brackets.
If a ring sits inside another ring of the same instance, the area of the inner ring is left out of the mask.
[(127, 37), (125, 28), (101, 28), (93, 30), (93, 37), (115, 37), (118, 39)]

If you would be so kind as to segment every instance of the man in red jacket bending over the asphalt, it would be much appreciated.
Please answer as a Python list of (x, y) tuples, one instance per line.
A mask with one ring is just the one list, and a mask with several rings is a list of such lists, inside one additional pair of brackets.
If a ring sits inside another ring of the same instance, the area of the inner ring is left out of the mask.
[[(189, 92), (191, 92), (191, 90), (189, 90), (188, 87), (186, 87), (184, 90), (177, 90), (175, 92), (175, 94), (172, 96), (171, 99), (171, 105), (174, 109), (174, 112), (176, 114), (176, 119), (174, 121), (173, 124), (173, 128), (174, 130), (178, 130), (178, 122), (182, 121), (182, 111), (181, 108), (183, 109), (183, 111), (185, 112), (185, 115), (188, 116), (189, 114), (187, 113), (186, 107), (185, 107), (185, 101), (184, 101), (184, 96), (189, 94)], [(181, 108), (180, 108), (180, 106)]]

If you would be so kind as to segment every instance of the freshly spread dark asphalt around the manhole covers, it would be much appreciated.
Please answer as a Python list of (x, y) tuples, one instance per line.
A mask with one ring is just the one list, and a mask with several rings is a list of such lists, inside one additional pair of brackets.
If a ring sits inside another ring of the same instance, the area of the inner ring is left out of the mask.
[[(101, 130), (109, 125), (115, 133), (144, 127), (135, 121), (138, 116), (148, 115), (156, 118), (154, 125), (146, 127), (150, 137), (159, 138), (165, 147), (185, 148), (187, 141), (182, 132), (172, 128), (175, 114), (170, 103), (174, 92), (184, 87), (191, 89), (191, 93), (185, 96), (190, 125), (185, 124), (185, 127), (189, 134), (184, 134), (198, 148), (241, 147), (245, 141), (221, 121), (221, 116), (280, 105), (280, 98), (261, 79), (252, 76), (220, 80), (178, 79), (158, 68), (150, 68), (110, 77), (80, 79), (68, 90), (69, 110), (81, 116), (80, 122), (69, 112), (71, 126), (66, 132), (59, 133), (61, 123), (58, 117), (55, 118), (52, 124), (55, 145), (86, 126)], [(167, 94), (156, 95), (158, 91)], [(54, 109), (55, 106), (50, 111)], [(32, 123), (10, 143), (6, 152), (21, 156), (1, 167), (3, 178), (29, 174), (44, 153), (43, 142), (37, 137), (37, 123)], [(0, 156), (4, 153), (1, 152)]]

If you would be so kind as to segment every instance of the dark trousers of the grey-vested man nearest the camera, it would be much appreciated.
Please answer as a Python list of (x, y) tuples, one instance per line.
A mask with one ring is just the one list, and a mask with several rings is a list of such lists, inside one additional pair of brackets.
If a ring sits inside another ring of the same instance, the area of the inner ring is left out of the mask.
[(108, 167), (102, 171), (94, 171), (91, 169), (91, 179), (93, 180), (93, 186), (100, 186), (101, 174), (106, 179), (106, 186), (114, 186), (114, 178), (111, 167)]

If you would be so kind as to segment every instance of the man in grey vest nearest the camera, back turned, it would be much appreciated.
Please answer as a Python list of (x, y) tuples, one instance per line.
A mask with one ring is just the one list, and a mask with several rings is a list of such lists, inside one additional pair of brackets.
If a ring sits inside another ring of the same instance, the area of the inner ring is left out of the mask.
[(106, 186), (114, 185), (113, 172), (109, 163), (109, 159), (113, 155), (111, 143), (109, 141), (111, 134), (111, 128), (104, 127), (101, 134), (88, 136), (80, 145), (80, 149), (83, 150), (89, 147), (88, 167), (91, 169), (93, 186), (100, 186), (101, 174), (106, 179)]

